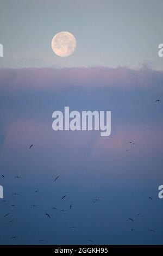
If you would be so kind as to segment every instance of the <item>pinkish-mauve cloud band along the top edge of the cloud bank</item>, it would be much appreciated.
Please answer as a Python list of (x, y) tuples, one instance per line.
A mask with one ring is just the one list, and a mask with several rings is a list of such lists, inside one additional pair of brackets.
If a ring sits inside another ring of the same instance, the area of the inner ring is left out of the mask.
[(163, 71), (128, 68), (1, 69), (1, 90), (59, 90), (71, 87), (149, 87), (162, 84)]

